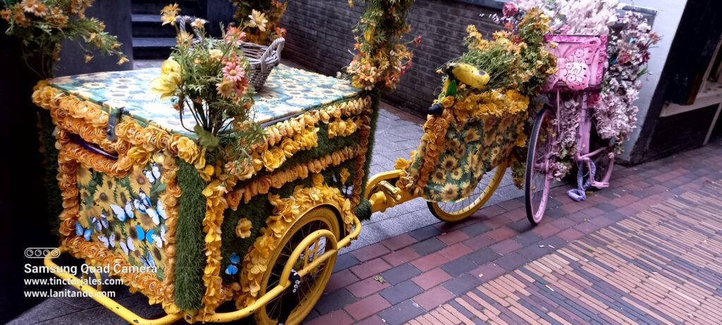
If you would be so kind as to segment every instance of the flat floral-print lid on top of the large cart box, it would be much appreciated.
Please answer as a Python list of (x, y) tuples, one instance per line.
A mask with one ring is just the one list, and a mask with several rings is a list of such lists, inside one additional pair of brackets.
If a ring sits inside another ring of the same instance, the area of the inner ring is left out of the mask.
[[(184, 118), (181, 125), (178, 111), (170, 100), (161, 100), (159, 94), (150, 90), (151, 80), (158, 75), (160, 68), (151, 68), (58, 77), (51, 79), (50, 83), (63, 92), (102, 105), (110, 111), (123, 108), (125, 115), (142, 123), (195, 137), (195, 134), (187, 131), (196, 124), (191, 114), (184, 114), (188, 118)], [(360, 92), (345, 80), (279, 64), (271, 71), (264, 88), (253, 96), (256, 121), (277, 121), (354, 97)]]

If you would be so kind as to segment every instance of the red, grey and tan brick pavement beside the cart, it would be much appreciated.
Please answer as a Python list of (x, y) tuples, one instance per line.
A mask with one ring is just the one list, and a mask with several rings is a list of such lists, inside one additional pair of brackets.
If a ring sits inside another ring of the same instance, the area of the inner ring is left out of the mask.
[[(572, 202), (552, 191), (339, 256), (308, 324), (716, 324), (722, 146), (620, 168)], [(374, 278), (380, 275), (385, 282)]]

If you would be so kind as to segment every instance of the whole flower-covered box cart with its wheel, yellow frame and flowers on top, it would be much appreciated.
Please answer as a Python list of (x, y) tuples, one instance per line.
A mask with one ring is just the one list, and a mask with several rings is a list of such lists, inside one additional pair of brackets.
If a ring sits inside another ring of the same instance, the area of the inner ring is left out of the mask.
[(168, 315), (143, 319), (102, 287), (76, 287), (131, 324), (300, 323), (370, 217), (369, 144), (380, 90), (410, 64), (410, 5), (367, 3), (350, 81), (279, 65), (256, 83), (238, 27), (206, 38), (203, 20), (169, 5), (164, 25), (190, 23), (198, 38), (177, 28), (160, 69), (40, 82), (32, 99), (53, 121), (59, 249)]

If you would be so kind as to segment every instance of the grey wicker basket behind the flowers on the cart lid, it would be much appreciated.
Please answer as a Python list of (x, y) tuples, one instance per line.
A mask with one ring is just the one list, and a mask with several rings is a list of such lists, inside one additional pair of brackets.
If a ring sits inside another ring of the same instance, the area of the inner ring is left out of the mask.
[(277, 38), (268, 46), (255, 43), (240, 45), (240, 51), (243, 51), (245, 58), (248, 58), (248, 62), (251, 63), (251, 71), (249, 71), (248, 75), (251, 84), (253, 84), (253, 89), (256, 91), (264, 87), (271, 70), (281, 61), (281, 51), (284, 43), (283, 38)]

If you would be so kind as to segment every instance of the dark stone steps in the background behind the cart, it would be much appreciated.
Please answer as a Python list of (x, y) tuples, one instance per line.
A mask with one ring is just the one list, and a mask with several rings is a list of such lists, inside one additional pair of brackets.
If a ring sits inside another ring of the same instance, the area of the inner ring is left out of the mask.
[(160, 9), (173, 3), (180, 6), (181, 14), (194, 16), (199, 10), (198, 0), (131, 0), (134, 58), (168, 58), (175, 45), (175, 29), (161, 25)]

